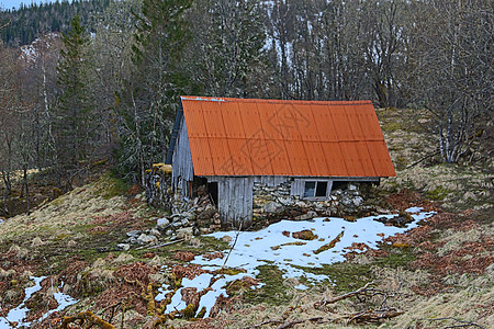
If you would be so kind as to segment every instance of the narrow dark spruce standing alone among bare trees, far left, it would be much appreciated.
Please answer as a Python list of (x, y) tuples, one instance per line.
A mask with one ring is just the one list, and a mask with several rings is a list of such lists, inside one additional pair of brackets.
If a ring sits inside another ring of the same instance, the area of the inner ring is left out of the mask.
[(79, 168), (88, 159), (90, 146), (91, 102), (87, 90), (86, 47), (89, 36), (79, 16), (71, 20), (71, 30), (63, 34), (57, 75), (60, 94), (55, 123), (59, 174), (65, 175)]

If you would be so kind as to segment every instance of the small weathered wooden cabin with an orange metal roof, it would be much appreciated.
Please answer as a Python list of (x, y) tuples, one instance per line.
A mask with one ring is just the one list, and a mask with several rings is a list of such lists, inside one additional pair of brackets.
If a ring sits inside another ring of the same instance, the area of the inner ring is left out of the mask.
[(207, 186), (224, 227), (251, 222), (255, 184), (324, 200), (336, 182), (395, 175), (370, 101), (182, 97), (167, 163), (183, 197)]

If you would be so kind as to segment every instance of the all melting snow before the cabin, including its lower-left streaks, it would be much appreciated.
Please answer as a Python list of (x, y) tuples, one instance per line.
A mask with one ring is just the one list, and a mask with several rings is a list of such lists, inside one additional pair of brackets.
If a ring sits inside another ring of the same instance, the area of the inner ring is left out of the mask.
[[(313, 220), (281, 220), (269, 227), (258, 231), (218, 231), (209, 235), (217, 239), (228, 236), (232, 238), (232, 251), (223, 251), (226, 254), (231, 252), (226, 266), (246, 270), (246, 273), (237, 275), (218, 275), (220, 280), (211, 285), (211, 291), (202, 296), (198, 311), (205, 307), (209, 316), (211, 308), (216, 303), (216, 298), (221, 295), (227, 296), (225, 286), (237, 279), (244, 276), (255, 277), (259, 274), (257, 268), (262, 264), (274, 264), (283, 271), (283, 277), (306, 277), (312, 282), (321, 282), (329, 280), (326, 275), (315, 275), (306, 273), (300, 268), (322, 268), (323, 264), (332, 264), (345, 260), (344, 254), (353, 242), (364, 242), (370, 248), (377, 248), (379, 241), (389, 236), (404, 232), (417, 226), (417, 222), (431, 217), (435, 213), (423, 212), (423, 208), (412, 207), (406, 209), (412, 214), (413, 223), (406, 228), (395, 226), (385, 226), (381, 222), (377, 222), (378, 217), (392, 218), (397, 215), (382, 215), (359, 218), (356, 222), (347, 222), (344, 218), (314, 218)], [(295, 231), (310, 229), (317, 239), (301, 240), (292, 237)], [(290, 232), (290, 234), (288, 234)], [(343, 232), (339, 241), (328, 250), (315, 253), (317, 249), (329, 243)], [(355, 250), (359, 251), (359, 250)], [(209, 260), (204, 257), (197, 257), (192, 263), (200, 264), (205, 270), (218, 270), (225, 264), (225, 259)], [(215, 279), (213, 274), (204, 273), (193, 280), (183, 279), (182, 287), (173, 295), (171, 303), (168, 305), (166, 313), (175, 309), (183, 309), (187, 305), (181, 299), (181, 290), (186, 287), (195, 287), (198, 292), (204, 291), (210, 286), (210, 282)], [(258, 286), (260, 287), (262, 283)], [(301, 284), (295, 288), (306, 290), (307, 286)], [(157, 300), (162, 300), (165, 295), (169, 293), (161, 288)]]

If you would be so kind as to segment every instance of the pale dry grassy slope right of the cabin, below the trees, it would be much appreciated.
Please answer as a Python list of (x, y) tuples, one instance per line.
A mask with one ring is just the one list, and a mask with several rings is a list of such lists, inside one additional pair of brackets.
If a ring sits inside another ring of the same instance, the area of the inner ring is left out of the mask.
[(417, 190), (448, 209), (494, 206), (494, 160), (483, 167), (440, 163), (439, 144), (426, 129), (430, 125), (427, 112), (381, 109), (378, 114), (396, 169), (395, 178), (382, 182), (383, 190)]

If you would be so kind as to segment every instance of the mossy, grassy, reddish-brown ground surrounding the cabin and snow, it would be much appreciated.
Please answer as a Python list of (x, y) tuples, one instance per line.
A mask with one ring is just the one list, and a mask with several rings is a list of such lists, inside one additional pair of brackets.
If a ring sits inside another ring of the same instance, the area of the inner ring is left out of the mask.
[[(379, 250), (304, 269), (326, 274), (330, 282), (299, 291), (296, 285), (308, 283), (283, 279), (274, 265), (262, 265), (257, 280), (266, 285), (250, 290), (246, 282), (233, 283), (227, 288), (231, 297), (217, 303), (221, 311), (214, 318), (168, 319), (161, 328), (492, 328), (493, 163), (442, 164), (437, 156), (427, 157), (436, 144), (424, 134), (429, 124), (425, 113), (388, 109), (378, 115), (397, 177), (373, 191), (375, 198), (394, 209), (424, 206), (438, 215), (386, 239)], [(158, 316), (164, 302), (154, 303), (150, 296), (164, 283), (179, 287), (182, 277), (201, 273), (187, 262), (188, 254), (225, 250), (227, 243), (200, 237), (153, 250), (113, 251), (126, 231), (154, 226), (162, 215), (135, 192), (103, 175), (30, 215), (0, 224), (1, 314), (19, 305), (31, 275), (47, 275), (27, 303), (31, 318), (56, 307), (53, 294), (58, 290), (80, 302), (34, 328), (55, 328), (63, 316), (86, 310), (116, 328), (153, 328), (164, 320)], [(101, 247), (109, 251), (98, 251)], [(171, 265), (173, 270), (164, 270)], [(328, 303), (371, 282), (366, 296)], [(190, 298), (193, 304), (193, 294)], [(370, 309), (400, 315), (372, 324), (351, 321), (352, 315)]]

